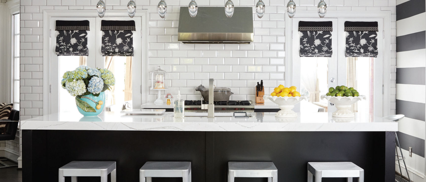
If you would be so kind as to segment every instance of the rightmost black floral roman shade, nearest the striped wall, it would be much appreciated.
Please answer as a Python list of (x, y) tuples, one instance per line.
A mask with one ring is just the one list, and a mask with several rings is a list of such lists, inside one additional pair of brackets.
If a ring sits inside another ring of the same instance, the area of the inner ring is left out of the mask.
[(345, 22), (346, 57), (377, 57), (377, 22)]

